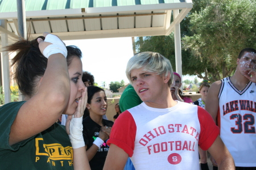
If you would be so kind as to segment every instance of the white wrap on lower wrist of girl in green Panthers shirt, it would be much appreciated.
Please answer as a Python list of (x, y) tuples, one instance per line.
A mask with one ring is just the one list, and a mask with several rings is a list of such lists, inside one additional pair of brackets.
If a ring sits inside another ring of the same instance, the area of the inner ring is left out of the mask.
[(84, 138), (82, 137), (82, 117), (75, 118), (74, 115), (69, 126), (69, 139), (73, 148), (85, 146)]

